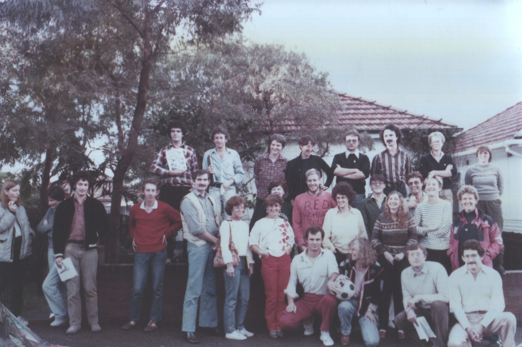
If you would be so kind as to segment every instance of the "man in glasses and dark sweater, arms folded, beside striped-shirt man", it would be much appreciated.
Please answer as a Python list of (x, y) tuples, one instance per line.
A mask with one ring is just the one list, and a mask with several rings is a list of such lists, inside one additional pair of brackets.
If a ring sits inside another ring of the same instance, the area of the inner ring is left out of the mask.
[(357, 149), (361, 135), (357, 130), (345, 134), (346, 152), (336, 154), (331, 163), (331, 170), (337, 176), (337, 183), (349, 183), (357, 196), (352, 201), (352, 207), (358, 208), (359, 202), (366, 197), (366, 178), (370, 177), (370, 159)]

